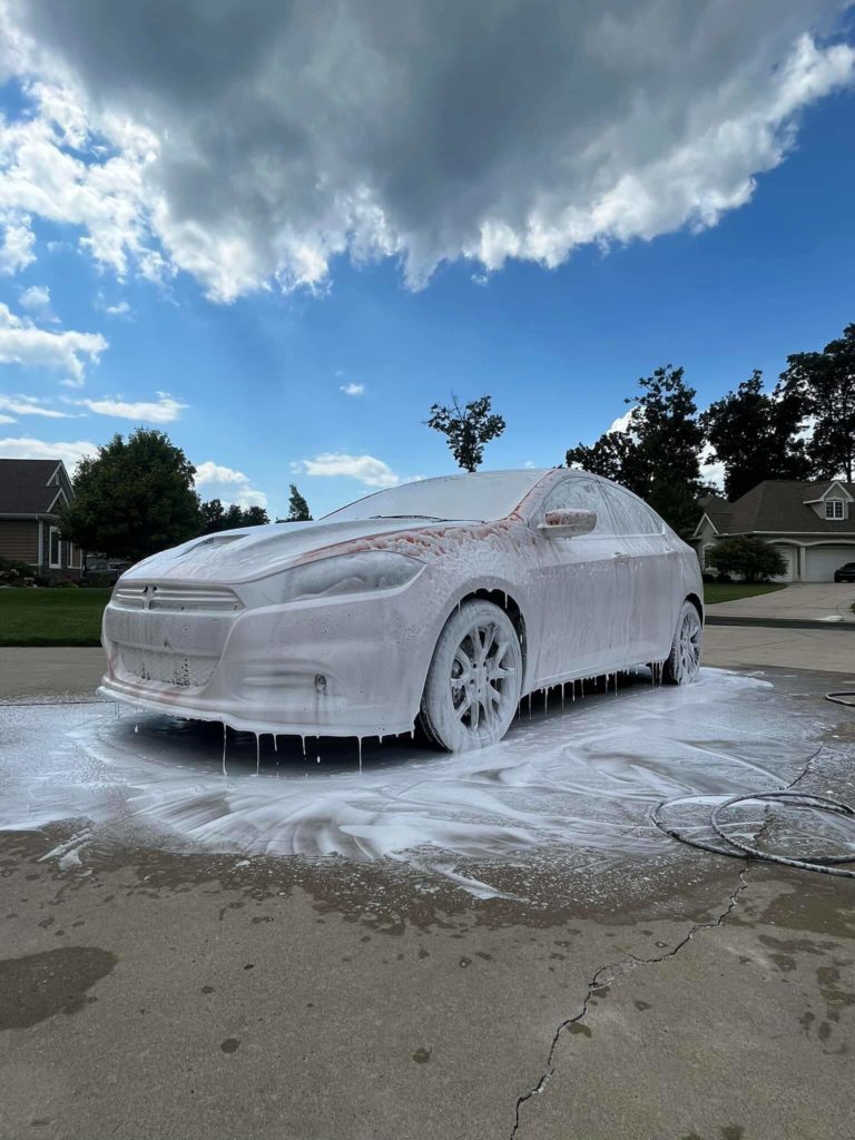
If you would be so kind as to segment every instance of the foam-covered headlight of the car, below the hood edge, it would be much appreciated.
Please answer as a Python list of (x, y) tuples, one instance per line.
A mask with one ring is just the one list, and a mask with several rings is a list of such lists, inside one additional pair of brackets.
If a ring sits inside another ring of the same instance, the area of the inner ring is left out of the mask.
[(308, 562), (285, 571), (283, 602), (394, 589), (415, 578), (423, 565), (417, 559), (390, 551), (366, 551), (363, 554), (318, 559), (317, 562)]

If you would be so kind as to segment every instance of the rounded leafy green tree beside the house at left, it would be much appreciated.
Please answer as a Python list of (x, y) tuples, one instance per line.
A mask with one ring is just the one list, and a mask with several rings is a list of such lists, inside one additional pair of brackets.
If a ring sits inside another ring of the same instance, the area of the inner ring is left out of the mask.
[(63, 538), (132, 562), (184, 543), (199, 530), (195, 473), (163, 432), (116, 434), (78, 464), (74, 499), (60, 511)]

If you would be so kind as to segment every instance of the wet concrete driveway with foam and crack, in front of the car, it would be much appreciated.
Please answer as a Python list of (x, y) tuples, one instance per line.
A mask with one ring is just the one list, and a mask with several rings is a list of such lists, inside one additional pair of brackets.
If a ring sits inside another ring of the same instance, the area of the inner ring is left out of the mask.
[(556, 690), (496, 748), (365, 742), (361, 772), (356, 742), (229, 733), (223, 774), (218, 726), (0, 709), (0, 1137), (850, 1137), (855, 883), (650, 823), (855, 803), (834, 682)]

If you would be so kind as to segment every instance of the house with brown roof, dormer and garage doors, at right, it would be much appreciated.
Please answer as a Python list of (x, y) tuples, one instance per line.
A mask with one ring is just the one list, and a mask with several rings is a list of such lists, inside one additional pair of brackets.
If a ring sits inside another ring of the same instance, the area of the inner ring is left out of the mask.
[(735, 535), (772, 543), (787, 562), (779, 581), (833, 581), (834, 570), (855, 562), (855, 483), (805, 483), (766, 479), (728, 503), (699, 499), (700, 521), (690, 542), (701, 567), (710, 547)]

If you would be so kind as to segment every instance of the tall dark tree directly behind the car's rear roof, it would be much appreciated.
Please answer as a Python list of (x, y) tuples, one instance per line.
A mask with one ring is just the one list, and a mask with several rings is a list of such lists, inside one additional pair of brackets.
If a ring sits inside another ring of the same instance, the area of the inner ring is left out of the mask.
[(567, 464), (621, 483), (685, 532), (698, 521), (694, 502), (707, 488), (700, 478), (703, 432), (695, 393), (683, 375), (683, 368), (666, 365), (640, 377), (641, 396), (627, 427), (605, 432), (591, 447), (570, 448)]

